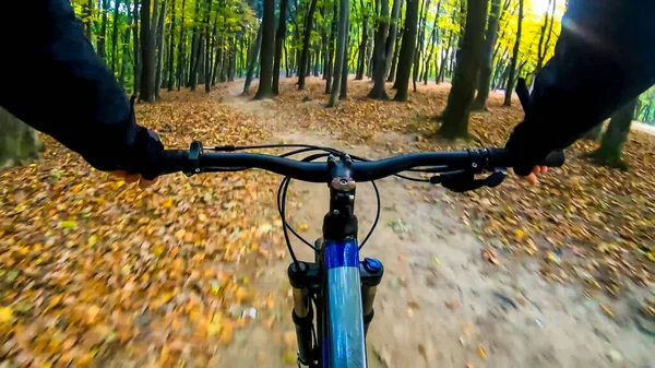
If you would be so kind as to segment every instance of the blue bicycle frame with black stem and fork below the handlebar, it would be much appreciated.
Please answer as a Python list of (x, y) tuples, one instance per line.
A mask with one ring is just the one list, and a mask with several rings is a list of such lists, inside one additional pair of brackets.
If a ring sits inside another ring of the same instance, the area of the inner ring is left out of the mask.
[(359, 260), (355, 182), (347, 163), (334, 168), (330, 212), (323, 219), (323, 238), (314, 247), (315, 263), (294, 262), (288, 270), (298, 367), (366, 368), (366, 332), (383, 266), (376, 259)]

